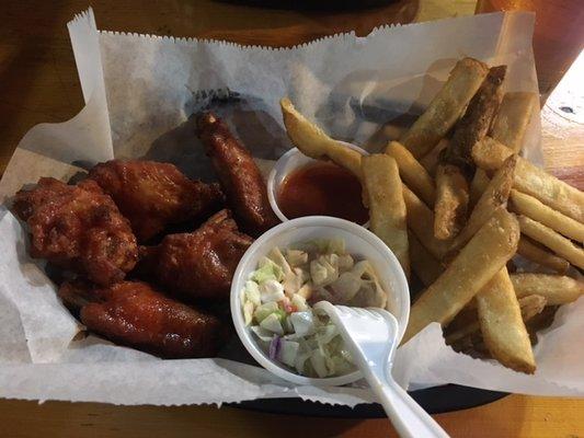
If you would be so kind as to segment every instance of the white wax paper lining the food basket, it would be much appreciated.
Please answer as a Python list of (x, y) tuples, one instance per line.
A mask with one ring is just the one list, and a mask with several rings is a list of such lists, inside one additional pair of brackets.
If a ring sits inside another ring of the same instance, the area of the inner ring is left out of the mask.
[[(100, 32), (91, 10), (69, 23), (85, 100), (71, 120), (43, 124), (20, 142), (0, 183), (0, 396), (117, 404), (224, 403), (301, 396), (370, 402), (363, 383), (296, 387), (250, 361), (238, 339), (221, 358), (161, 360), (95, 336), (60, 304), (10, 197), (39, 176), (68, 180), (114, 157), (176, 163), (211, 178), (190, 116), (225, 116), (264, 169), (290, 147), (278, 100), (288, 95), (333, 137), (379, 149), (430, 102), (462, 56), (508, 66), (506, 88), (537, 92), (534, 15), (490, 14), (336, 35), (290, 49)], [(410, 115), (408, 115), (410, 113)], [(526, 157), (541, 163), (539, 117)], [(398, 350), (394, 376), (410, 389), (460, 383), (529, 394), (584, 393), (584, 300), (560, 310), (536, 347), (538, 370), (524, 376), (454, 353), (433, 324)], [(242, 361), (247, 361), (244, 364)]]

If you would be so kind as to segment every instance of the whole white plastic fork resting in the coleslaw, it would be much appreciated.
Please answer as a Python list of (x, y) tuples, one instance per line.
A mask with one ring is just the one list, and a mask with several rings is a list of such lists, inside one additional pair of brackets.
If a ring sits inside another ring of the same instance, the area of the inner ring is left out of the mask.
[(448, 437), (391, 376), (398, 344), (398, 321), (382, 309), (359, 309), (320, 301), (314, 310), (339, 327), (355, 365), (379, 399), (396, 430), (404, 438)]

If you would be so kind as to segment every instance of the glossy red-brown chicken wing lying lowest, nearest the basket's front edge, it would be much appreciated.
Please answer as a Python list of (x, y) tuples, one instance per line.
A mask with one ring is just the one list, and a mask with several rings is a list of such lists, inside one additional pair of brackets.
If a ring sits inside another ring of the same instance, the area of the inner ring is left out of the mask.
[(215, 356), (229, 333), (217, 316), (174, 301), (147, 283), (122, 281), (107, 288), (65, 283), (59, 297), (79, 311), (91, 332), (164, 358)]

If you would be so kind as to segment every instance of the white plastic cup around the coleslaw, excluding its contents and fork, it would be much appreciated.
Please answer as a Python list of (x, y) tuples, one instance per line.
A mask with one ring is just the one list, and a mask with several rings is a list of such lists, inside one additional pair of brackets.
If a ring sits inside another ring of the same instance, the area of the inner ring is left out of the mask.
[(230, 297), (231, 315), (239, 338), (262, 367), (294, 383), (336, 387), (359, 380), (363, 377), (360, 371), (324, 379), (299, 376), (288, 370), (284, 365), (270, 359), (267, 354), (257, 345), (253, 333), (243, 321), (241, 293), (245, 281), (257, 268), (259, 260), (267, 255), (275, 246), (285, 249), (294, 243), (314, 239), (343, 239), (348, 254), (357, 258), (368, 260), (371, 263), (381, 287), (388, 291), (387, 310), (398, 320), (398, 342), (400, 342), (410, 316), (410, 289), (400, 263), (391, 250), (370, 231), (348, 220), (328, 216), (307, 216), (283, 222), (253, 242), (243, 254), (233, 276)]

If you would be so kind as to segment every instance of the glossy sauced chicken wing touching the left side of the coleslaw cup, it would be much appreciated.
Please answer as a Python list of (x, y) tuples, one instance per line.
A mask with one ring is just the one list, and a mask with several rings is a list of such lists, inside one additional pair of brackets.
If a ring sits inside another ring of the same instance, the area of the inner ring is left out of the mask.
[(179, 299), (227, 299), (231, 278), (252, 239), (238, 231), (229, 210), (221, 210), (191, 233), (169, 234), (160, 245), (141, 249), (138, 269)]

